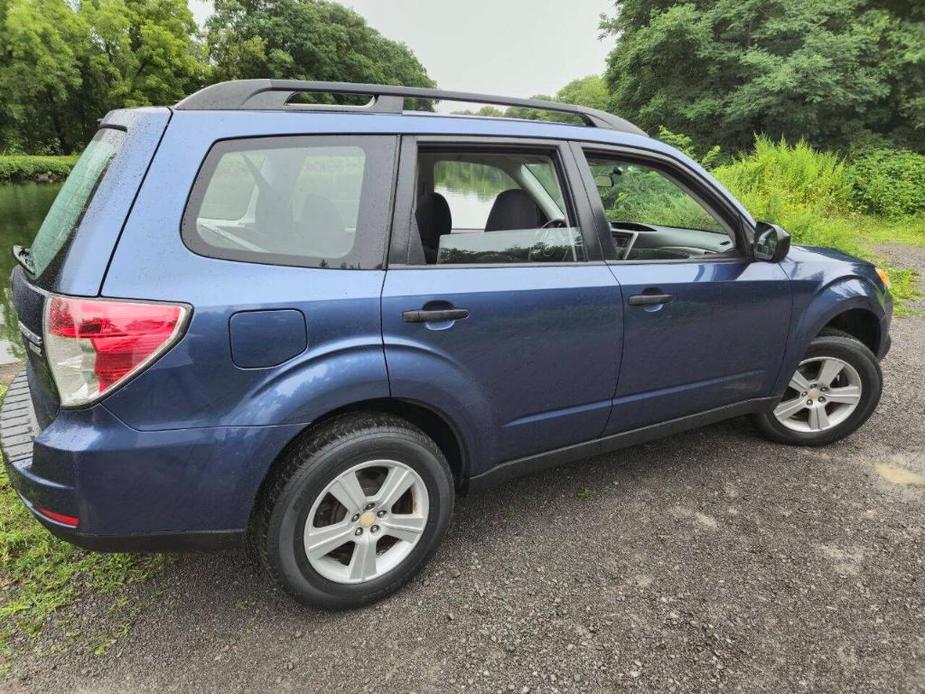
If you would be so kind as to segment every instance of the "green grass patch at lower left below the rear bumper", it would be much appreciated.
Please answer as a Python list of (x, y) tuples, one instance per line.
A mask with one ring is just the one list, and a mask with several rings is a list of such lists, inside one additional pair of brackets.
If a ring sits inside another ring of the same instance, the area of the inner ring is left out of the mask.
[[(0, 386), (0, 399), (5, 393), (6, 386)], [(169, 562), (164, 555), (85, 552), (58, 540), (32, 517), (0, 474), (0, 672), (9, 669), (14, 645), (34, 643), (62, 608), (85, 595), (116, 594)], [(114, 609), (130, 616), (131, 606), (126, 603), (120, 610), (120, 604), (116, 600)], [(117, 625), (114, 634), (69, 635), (92, 639), (91, 650), (101, 653), (123, 631)]]

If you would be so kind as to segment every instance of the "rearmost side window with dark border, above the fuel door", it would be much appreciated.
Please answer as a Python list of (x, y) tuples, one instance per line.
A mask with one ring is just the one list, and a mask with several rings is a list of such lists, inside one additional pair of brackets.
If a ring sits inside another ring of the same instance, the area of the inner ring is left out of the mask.
[(216, 143), (193, 186), (184, 241), (228, 260), (381, 267), (394, 149), (377, 136)]

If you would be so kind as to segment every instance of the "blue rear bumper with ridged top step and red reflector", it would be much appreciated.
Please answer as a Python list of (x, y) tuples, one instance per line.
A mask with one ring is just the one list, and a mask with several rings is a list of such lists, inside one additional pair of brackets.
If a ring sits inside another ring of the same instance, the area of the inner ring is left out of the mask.
[(34, 419), (21, 374), (0, 408), (6, 473), (46, 528), (99, 551), (239, 544), (271, 462), (298, 433), (296, 426), (138, 431), (102, 405), (62, 410), (42, 431)]

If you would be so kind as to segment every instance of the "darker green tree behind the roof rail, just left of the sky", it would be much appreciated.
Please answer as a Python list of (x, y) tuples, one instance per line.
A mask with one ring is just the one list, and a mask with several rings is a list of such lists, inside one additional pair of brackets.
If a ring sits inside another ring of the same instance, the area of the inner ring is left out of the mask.
[(218, 80), (434, 86), (407, 46), (383, 37), (356, 12), (333, 2), (216, 0), (208, 43)]

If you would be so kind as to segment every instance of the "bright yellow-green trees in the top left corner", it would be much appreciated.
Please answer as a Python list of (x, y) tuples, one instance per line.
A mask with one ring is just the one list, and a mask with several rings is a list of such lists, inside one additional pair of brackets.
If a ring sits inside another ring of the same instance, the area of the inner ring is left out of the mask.
[(173, 103), (207, 75), (185, 0), (6, 0), (0, 46), (0, 149), (74, 152), (107, 111)]

